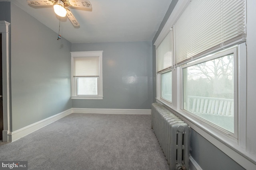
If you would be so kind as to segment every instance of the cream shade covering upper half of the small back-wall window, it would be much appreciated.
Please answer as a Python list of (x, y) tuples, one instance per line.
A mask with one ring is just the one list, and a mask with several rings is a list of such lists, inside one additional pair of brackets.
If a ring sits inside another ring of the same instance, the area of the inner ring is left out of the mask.
[(74, 75), (99, 76), (99, 57), (74, 58)]

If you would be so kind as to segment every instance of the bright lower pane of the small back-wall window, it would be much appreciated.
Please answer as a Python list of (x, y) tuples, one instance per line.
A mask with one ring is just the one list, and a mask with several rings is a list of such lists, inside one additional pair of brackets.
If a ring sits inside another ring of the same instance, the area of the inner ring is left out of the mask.
[(77, 95), (98, 95), (98, 77), (79, 77), (77, 84)]

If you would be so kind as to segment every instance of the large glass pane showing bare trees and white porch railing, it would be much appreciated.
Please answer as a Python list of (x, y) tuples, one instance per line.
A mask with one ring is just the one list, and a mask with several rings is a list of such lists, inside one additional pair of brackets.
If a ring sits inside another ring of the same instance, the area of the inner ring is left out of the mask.
[(184, 109), (234, 133), (234, 55), (183, 69)]

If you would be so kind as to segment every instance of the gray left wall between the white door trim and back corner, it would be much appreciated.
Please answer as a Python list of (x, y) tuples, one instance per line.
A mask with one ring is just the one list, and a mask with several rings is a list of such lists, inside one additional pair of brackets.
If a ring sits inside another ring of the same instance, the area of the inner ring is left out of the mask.
[(71, 43), (11, 3), (12, 131), (72, 108)]

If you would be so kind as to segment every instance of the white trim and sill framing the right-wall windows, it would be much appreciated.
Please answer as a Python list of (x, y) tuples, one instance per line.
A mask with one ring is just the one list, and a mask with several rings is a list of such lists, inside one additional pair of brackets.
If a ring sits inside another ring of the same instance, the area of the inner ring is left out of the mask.
[[(156, 39), (154, 45), (158, 47), (168, 31), (174, 25), (182, 11), (186, 8), (189, 0), (178, 1), (172, 14), (166, 21), (162, 31)], [(156, 63), (157, 64), (157, 63)], [(208, 128), (204, 122), (199, 123), (193, 119), (191, 115), (184, 115), (180, 109), (180, 68), (172, 69), (172, 103), (167, 102), (160, 98), (160, 75), (156, 74), (156, 102), (166, 106), (178, 115), (182, 120), (186, 121), (192, 129), (202, 135), (210, 143), (222, 150), (234, 161), (238, 162), (245, 169), (255, 169), (256, 167), (256, 155), (246, 151), (246, 43), (238, 45), (238, 130), (237, 139), (228, 137), (225, 133), (221, 133), (215, 128)], [(155, 70), (156, 71), (156, 70)], [(157, 71), (156, 71), (157, 72)], [(242, 76), (240, 76), (242, 75)], [(176, 82), (176, 83), (175, 83)], [(248, 135), (248, 134), (247, 134)]]

